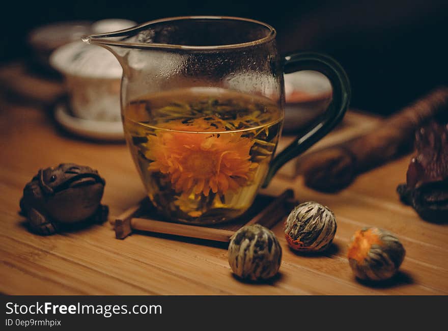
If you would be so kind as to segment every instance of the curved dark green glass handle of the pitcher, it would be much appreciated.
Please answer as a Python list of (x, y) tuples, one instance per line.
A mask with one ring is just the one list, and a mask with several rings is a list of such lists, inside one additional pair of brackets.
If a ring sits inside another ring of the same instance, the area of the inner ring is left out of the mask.
[(322, 139), (344, 117), (350, 102), (350, 82), (341, 65), (329, 56), (321, 53), (303, 52), (285, 57), (284, 72), (314, 70), (323, 73), (333, 88), (332, 100), (326, 112), (319, 116), (305, 133), (298, 136), (287, 148), (272, 160), (262, 187), (266, 187), (275, 173), (286, 162), (303, 153)]

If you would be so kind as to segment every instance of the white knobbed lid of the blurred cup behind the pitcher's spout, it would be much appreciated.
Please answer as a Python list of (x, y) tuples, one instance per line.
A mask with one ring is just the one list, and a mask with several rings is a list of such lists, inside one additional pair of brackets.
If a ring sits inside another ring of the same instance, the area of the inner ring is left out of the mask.
[[(136, 23), (128, 20), (95, 22), (96, 33), (109, 28), (123, 30)], [(91, 78), (120, 78), (123, 70), (115, 56), (97, 45), (75, 41), (56, 49), (50, 56), (50, 65), (64, 74)]]

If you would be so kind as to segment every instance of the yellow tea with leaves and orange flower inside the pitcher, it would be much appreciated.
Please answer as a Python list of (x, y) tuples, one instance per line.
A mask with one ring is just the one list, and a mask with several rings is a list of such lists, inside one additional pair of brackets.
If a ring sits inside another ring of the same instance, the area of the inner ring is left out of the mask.
[(283, 112), (267, 98), (189, 88), (131, 102), (123, 122), (154, 206), (173, 220), (210, 224), (235, 218), (253, 203)]

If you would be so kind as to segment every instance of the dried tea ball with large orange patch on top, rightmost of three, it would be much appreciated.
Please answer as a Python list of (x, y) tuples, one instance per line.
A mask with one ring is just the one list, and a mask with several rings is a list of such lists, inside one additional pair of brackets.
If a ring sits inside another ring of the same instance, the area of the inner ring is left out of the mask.
[(394, 234), (371, 227), (355, 232), (348, 249), (348, 260), (357, 278), (380, 281), (397, 272), (405, 253)]

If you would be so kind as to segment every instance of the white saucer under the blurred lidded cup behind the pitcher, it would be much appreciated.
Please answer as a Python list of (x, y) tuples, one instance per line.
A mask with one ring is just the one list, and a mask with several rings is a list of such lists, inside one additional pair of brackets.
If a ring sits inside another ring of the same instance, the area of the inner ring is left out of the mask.
[(121, 122), (95, 121), (74, 117), (65, 103), (59, 103), (55, 107), (54, 119), (67, 131), (81, 137), (109, 142), (124, 140)]

